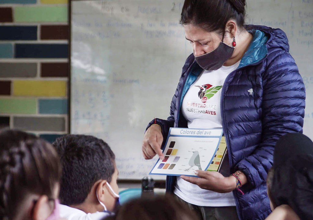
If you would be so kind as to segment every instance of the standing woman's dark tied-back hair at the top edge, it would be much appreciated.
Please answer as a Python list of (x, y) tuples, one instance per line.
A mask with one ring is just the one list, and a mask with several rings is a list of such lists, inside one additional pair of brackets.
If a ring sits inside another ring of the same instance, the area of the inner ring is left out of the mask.
[(192, 24), (208, 32), (224, 32), (228, 20), (244, 26), (245, 0), (185, 0), (180, 23)]

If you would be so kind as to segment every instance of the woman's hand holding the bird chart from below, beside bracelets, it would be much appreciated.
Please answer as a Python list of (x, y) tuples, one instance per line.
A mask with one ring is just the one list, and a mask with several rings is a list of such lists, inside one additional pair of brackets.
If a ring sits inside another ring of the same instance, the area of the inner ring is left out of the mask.
[(225, 193), (236, 189), (236, 177), (224, 177), (216, 171), (196, 170), (195, 174), (200, 177), (181, 176), (183, 180), (198, 185), (202, 189)]

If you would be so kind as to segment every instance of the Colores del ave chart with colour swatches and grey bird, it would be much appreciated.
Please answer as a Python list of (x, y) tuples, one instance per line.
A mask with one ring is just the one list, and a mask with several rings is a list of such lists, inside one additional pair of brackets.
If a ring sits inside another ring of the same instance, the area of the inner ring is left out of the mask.
[(170, 128), (163, 154), (149, 174), (197, 176), (207, 170), (218, 151), (222, 129)]

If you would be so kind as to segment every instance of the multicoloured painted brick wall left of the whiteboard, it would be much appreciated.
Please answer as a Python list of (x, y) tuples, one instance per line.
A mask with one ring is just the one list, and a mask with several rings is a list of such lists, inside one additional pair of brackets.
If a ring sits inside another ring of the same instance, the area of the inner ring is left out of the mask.
[(0, 0), (0, 128), (68, 133), (67, 0)]

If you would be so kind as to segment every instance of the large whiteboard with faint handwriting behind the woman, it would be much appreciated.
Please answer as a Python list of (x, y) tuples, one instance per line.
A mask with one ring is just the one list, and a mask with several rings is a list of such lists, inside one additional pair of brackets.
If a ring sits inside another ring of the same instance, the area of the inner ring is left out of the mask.
[[(70, 132), (102, 138), (115, 153), (119, 178), (141, 179), (157, 160), (142, 157), (146, 125), (169, 116), (192, 53), (179, 24), (183, 0), (70, 4)], [(313, 139), (312, 0), (247, 0), (247, 14), (247, 24), (286, 32), (306, 87), (304, 134)]]

